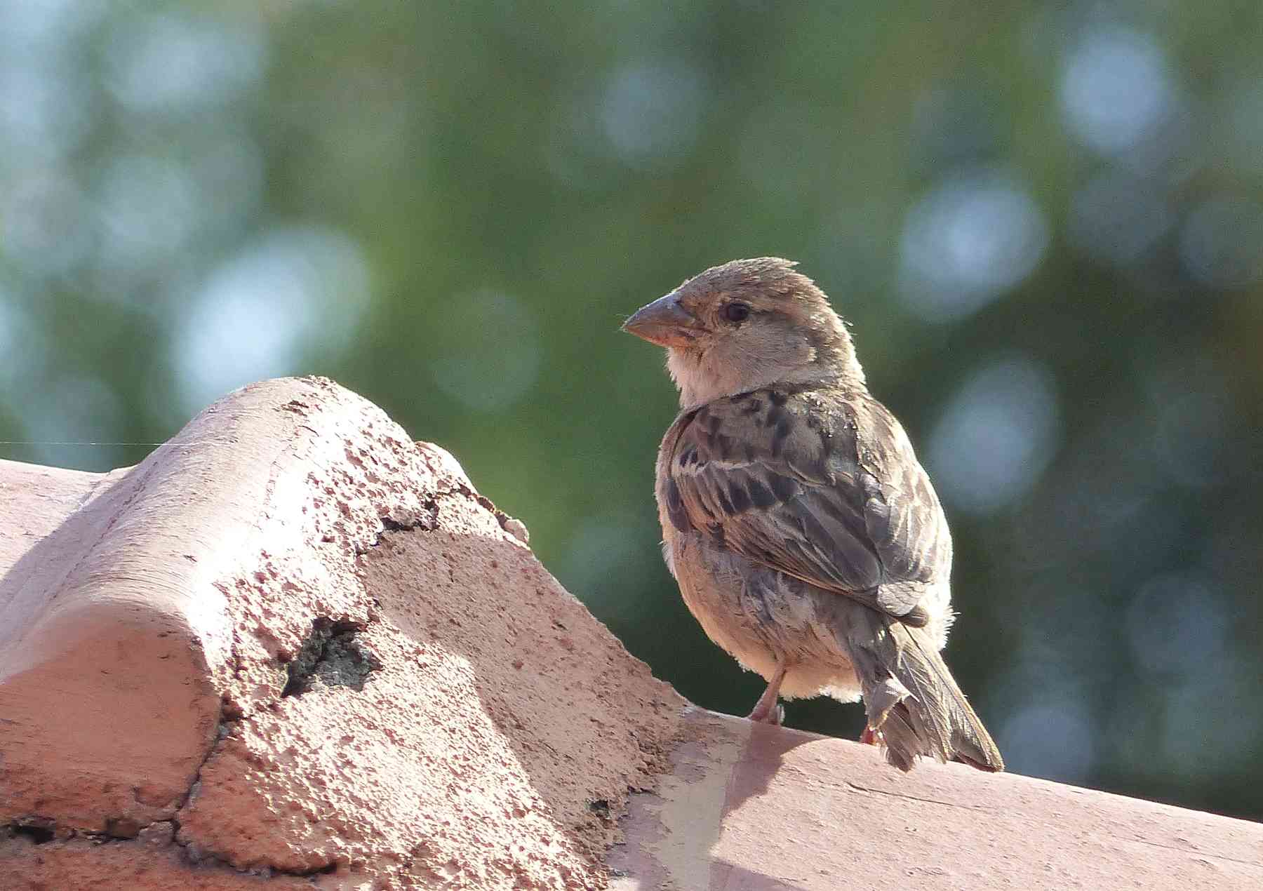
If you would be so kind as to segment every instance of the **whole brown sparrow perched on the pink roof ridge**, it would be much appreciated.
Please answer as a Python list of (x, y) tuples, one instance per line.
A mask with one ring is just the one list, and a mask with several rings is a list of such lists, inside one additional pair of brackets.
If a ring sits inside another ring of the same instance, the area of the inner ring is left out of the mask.
[(734, 260), (623, 329), (666, 347), (679, 414), (658, 452), (663, 555), (706, 635), (778, 698), (860, 697), (861, 737), (918, 756), (1004, 761), (940, 650), (951, 534), (846, 324), (796, 263)]

